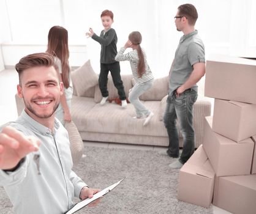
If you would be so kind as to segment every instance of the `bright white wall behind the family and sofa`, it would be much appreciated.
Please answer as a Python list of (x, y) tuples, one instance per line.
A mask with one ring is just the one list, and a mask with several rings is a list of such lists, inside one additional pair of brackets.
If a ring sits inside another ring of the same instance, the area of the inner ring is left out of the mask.
[[(197, 7), (195, 27), (205, 43), (206, 59), (211, 53), (255, 57), (254, 0), (1, 0), (3, 63), (15, 65), (25, 53), (45, 51), (40, 44), (47, 43), (48, 30), (53, 25), (61, 25), (69, 31), (70, 49), (79, 46), (75, 48), (78, 50), (70, 50), (70, 65), (82, 65), (89, 58), (99, 73), (100, 45), (86, 39), (85, 32), (92, 27), (99, 35), (102, 30), (100, 13), (110, 9), (114, 12), (118, 49), (131, 31), (140, 31), (141, 46), (146, 50), (152, 72), (156, 77), (165, 76), (183, 35), (176, 31), (173, 17), (177, 7), (187, 2)], [(121, 62), (121, 72), (130, 73), (128, 62)]]

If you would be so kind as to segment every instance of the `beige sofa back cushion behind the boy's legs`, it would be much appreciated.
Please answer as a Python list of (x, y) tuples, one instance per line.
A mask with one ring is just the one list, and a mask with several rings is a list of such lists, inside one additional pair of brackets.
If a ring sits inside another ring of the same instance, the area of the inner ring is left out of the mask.
[[(129, 89), (132, 88), (132, 75), (122, 75), (122, 83), (124, 84), (124, 92), (126, 93), (126, 97), (128, 97)], [(119, 97), (118, 89), (114, 86), (113, 79), (111, 75), (108, 75), (108, 98), (113, 99)], [(102, 99), (102, 94), (100, 92), (99, 85), (95, 87), (94, 101), (99, 103)]]

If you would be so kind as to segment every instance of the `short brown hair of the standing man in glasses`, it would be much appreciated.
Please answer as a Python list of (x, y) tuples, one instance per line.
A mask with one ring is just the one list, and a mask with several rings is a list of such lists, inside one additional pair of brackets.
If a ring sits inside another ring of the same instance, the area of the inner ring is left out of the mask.
[(178, 7), (178, 10), (179, 16), (186, 17), (190, 25), (195, 25), (195, 22), (197, 21), (198, 18), (198, 14), (197, 9), (195, 9), (195, 6), (193, 4), (182, 4)]

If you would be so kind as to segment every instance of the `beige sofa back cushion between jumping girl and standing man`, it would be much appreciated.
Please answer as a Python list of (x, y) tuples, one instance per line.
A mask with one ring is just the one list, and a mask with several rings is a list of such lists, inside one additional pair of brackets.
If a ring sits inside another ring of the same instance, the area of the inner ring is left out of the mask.
[[(132, 85), (135, 85), (135, 80), (132, 79)], [(151, 89), (147, 90), (140, 96), (140, 100), (162, 100), (168, 94), (168, 76), (157, 78), (154, 80)]]

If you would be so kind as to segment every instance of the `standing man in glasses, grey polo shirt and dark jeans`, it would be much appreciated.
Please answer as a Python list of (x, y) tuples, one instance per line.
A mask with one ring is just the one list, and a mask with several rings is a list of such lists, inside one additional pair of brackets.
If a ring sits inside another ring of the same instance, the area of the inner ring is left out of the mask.
[(197, 30), (197, 9), (192, 4), (178, 7), (175, 16), (177, 31), (183, 32), (171, 65), (167, 107), (164, 124), (167, 128), (169, 146), (167, 154), (179, 157), (179, 138), (176, 128), (178, 119), (183, 135), (183, 152), (178, 160), (169, 166), (179, 169), (189, 160), (195, 149), (195, 132), (193, 128), (193, 105), (197, 100), (197, 82), (205, 75), (205, 47)]

